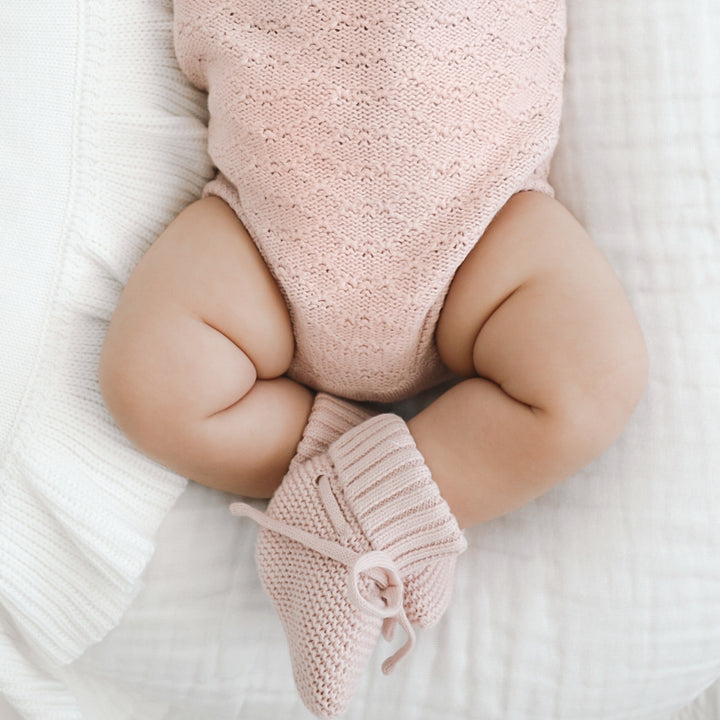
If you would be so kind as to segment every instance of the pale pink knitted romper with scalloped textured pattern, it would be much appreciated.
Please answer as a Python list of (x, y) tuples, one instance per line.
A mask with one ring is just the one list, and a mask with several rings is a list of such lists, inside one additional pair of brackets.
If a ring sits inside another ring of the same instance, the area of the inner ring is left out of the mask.
[(376, 401), (444, 379), (455, 271), (514, 193), (552, 194), (563, 0), (175, 0), (174, 32), (208, 92), (203, 195), (283, 293), (290, 377)]

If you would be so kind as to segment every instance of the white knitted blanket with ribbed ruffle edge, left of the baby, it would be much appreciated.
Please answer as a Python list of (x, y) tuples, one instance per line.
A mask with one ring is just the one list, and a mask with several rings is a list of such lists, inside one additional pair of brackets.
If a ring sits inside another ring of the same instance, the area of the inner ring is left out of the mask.
[[(200, 192), (203, 171), (211, 176), (203, 127), (190, 117), (203, 98), (180, 73), (159, 72), (171, 57), (169, 7), (54, 9), (63, 20), (53, 30), (24, 4), (0, 11), (23, 69), (3, 80), (12, 114), (3, 110), (0, 124), (11, 119), (25, 149), (53, 134), (40, 165), (7, 153), (4, 132), (0, 150), (13, 185), (3, 193), (9, 225), (0, 221), (0, 364), (10, 371), (0, 373), (0, 716), (7, 701), (27, 720), (91, 714), (55, 668), (120, 622), (186, 485), (130, 447), (103, 405), (97, 363), (132, 268)], [(54, 73), (42, 70), (49, 56)], [(28, 187), (43, 191), (28, 201)]]

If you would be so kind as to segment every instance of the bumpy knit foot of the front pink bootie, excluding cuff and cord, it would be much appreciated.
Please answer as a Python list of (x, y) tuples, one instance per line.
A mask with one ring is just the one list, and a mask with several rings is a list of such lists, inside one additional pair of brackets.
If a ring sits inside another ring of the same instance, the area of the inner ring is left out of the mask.
[[(296, 466), (275, 493), (267, 514), (318, 537), (337, 540), (315, 484), (327, 470), (327, 463), (317, 458)], [(345, 540), (348, 547), (358, 553), (368, 551), (369, 543), (352, 516), (348, 521), (353, 527), (352, 536)], [(366, 616), (349, 602), (347, 568), (332, 558), (266, 529), (260, 530), (256, 558), (288, 640), (300, 697), (319, 717), (339, 715), (362, 678), (382, 620)]]

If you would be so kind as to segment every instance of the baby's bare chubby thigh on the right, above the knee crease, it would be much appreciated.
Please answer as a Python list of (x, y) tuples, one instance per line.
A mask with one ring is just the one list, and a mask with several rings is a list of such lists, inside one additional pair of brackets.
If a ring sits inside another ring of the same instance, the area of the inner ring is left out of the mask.
[(585, 461), (645, 386), (647, 351), (619, 278), (572, 214), (537, 192), (513, 196), (460, 266), (436, 342), (455, 373), (581, 436)]

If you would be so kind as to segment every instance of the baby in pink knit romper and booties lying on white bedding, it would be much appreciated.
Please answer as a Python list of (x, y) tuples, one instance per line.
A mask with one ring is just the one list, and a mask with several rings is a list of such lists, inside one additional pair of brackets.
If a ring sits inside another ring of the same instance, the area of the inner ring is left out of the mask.
[[(301, 696), (446, 609), (461, 528), (618, 437), (646, 382), (547, 181), (562, 0), (176, 0), (217, 175), (142, 258), (100, 380), (138, 448), (272, 498), (257, 560)], [(457, 379), (405, 422), (377, 403)], [(374, 401), (374, 405), (368, 405)]]

